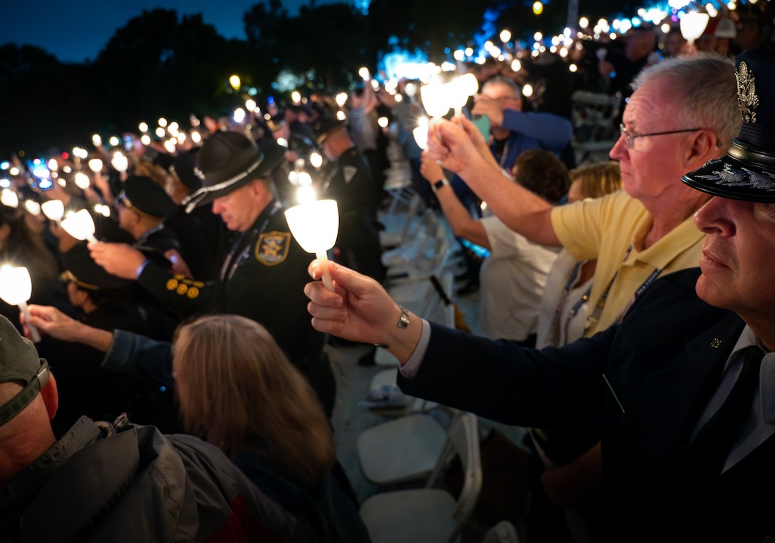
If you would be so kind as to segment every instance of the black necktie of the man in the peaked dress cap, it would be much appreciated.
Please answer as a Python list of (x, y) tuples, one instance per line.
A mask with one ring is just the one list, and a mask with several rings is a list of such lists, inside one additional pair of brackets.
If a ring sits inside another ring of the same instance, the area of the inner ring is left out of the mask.
[(740, 427), (751, 409), (759, 384), (764, 352), (756, 345), (743, 349), (742, 369), (729, 396), (684, 451), (684, 476), (691, 485), (708, 483), (722, 472)]

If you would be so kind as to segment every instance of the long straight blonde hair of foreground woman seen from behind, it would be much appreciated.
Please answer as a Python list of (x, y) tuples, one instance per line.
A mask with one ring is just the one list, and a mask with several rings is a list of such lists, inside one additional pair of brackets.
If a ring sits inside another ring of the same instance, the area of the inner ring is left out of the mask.
[(216, 314), (181, 325), (173, 369), (187, 431), (232, 456), (263, 455), (306, 486), (329, 473), (329, 421), (305, 377), (256, 321)]

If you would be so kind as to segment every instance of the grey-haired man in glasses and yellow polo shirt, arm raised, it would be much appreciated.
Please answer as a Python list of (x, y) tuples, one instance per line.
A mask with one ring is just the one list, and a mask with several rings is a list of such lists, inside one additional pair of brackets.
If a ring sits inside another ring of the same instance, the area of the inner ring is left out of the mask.
[[(561, 245), (577, 260), (597, 259), (587, 337), (620, 320), (663, 274), (697, 265), (704, 233), (692, 217), (710, 197), (681, 176), (723, 156), (742, 125), (734, 67), (720, 57), (666, 60), (643, 70), (633, 87), (610, 153), (623, 191), (595, 201), (552, 206), (510, 183), (482, 156), (483, 142), (465, 119), (436, 123), (429, 135), (429, 157), (460, 174), (510, 228), (533, 242)], [(600, 437), (596, 426), (581, 434), (559, 430), (566, 459), (550, 458), (560, 467), (544, 473), (543, 489), (561, 507), (600, 484), (600, 443), (591, 446)], [(549, 440), (558, 441), (556, 434), (544, 437), (545, 450)], [(586, 520), (594, 525), (594, 517)]]

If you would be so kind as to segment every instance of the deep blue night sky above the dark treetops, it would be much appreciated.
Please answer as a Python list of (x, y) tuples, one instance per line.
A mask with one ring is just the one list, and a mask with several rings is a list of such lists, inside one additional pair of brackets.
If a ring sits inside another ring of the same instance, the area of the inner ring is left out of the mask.
[[(341, 0), (316, 0), (316, 5)], [(227, 38), (245, 39), (242, 18), (259, 0), (2, 0), (0, 45), (29, 44), (52, 53), (61, 62), (94, 60), (115, 30), (143, 10), (174, 9), (183, 14), (202, 13), (205, 24)], [(282, 0), (295, 15), (309, 0)]]

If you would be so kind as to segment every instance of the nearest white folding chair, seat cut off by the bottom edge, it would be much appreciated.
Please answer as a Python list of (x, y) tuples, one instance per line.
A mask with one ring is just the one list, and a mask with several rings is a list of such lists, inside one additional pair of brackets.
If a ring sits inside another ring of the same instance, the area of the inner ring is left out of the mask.
[[(446, 490), (431, 488), (455, 454), (460, 455), (465, 474), (457, 500)], [(446, 445), (427, 486), (375, 494), (360, 506), (360, 516), (373, 543), (450, 543), (458, 540), (474, 511), (481, 484), (477, 418), (461, 414), (449, 426)]]

